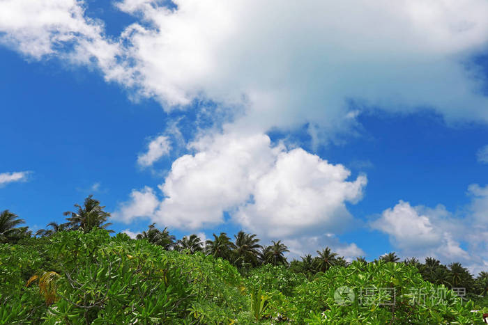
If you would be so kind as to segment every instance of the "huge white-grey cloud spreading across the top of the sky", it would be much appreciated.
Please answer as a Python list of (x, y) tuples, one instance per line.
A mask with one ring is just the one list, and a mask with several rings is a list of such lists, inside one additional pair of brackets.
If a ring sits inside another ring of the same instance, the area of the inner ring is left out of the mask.
[[(139, 22), (108, 39), (75, 0), (4, 0), (4, 43), (33, 58), (93, 65), (165, 109), (212, 100), (235, 128), (310, 122), (315, 141), (353, 125), (358, 109), (432, 107), (450, 121), (488, 120), (471, 56), (488, 41), (488, 3), (468, 1), (156, 0), (116, 6)], [(350, 111), (348, 102), (356, 102)], [(323, 132), (327, 130), (328, 132)]]

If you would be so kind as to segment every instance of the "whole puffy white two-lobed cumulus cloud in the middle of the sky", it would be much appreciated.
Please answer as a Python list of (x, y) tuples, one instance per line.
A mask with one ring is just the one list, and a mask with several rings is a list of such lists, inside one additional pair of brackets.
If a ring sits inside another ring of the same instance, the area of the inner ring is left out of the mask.
[(160, 185), (164, 198), (157, 209), (151, 189), (132, 191), (123, 220), (141, 216), (132, 207), (150, 197), (151, 219), (175, 228), (218, 225), (228, 212), (266, 237), (334, 232), (351, 221), (346, 202), (360, 200), (367, 182), (364, 175), (348, 181), (344, 166), (300, 148), (273, 146), (266, 134), (220, 134), (191, 146), (197, 153), (176, 159)]

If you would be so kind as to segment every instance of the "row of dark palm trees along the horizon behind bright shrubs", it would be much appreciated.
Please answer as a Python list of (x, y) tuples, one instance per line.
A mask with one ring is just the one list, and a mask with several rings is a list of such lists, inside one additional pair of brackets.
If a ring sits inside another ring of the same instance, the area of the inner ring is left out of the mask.
[[(112, 224), (107, 223), (110, 217), (109, 212), (105, 212), (103, 210), (105, 207), (100, 205), (100, 201), (94, 199), (93, 196), (88, 196), (83, 205), (75, 205), (75, 207), (73, 212), (64, 212), (64, 215), (67, 216), (66, 223), (52, 222), (47, 225), (46, 229), (40, 229), (34, 233), (29, 230), (29, 227), (22, 226), (25, 221), (19, 216), (9, 210), (4, 210), (0, 214), (0, 242), (17, 244), (23, 239), (49, 237), (56, 232), (70, 230), (81, 230), (86, 233), (94, 228), (106, 229)], [(107, 231), (113, 232), (112, 230)], [(205, 242), (201, 241), (198, 235), (185, 236), (177, 240), (174, 235), (170, 235), (167, 228), (160, 230), (153, 223), (146, 231), (138, 234), (137, 239), (146, 239), (151, 244), (162, 246), (166, 251), (181, 251), (188, 254), (201, 252), (215, 258), (220, 257), (237, 267), (241, 274), (247, 274), (251, 269), (264, 264), (272, 264), (273, 266), (282, 265), (297, 274), (303, 274), (308, 279), (312, 279), (317, 274), (328, 271), (330, 267), (348, 267), (351, 264), (328, 247), (317, 251), (316, 256), (309, 254), (300, 257), (299, 260), (288, 261), (284, 254), (289, 250), (281, 240), (272, 241), (273, 244), (269, 246), (262, 246), (259, 244), (260, 240), (257, 235), (243, 231), (234, 235), (234, 239), (231, 239), (227, 233), (221, 232), (220, 235), (213, 234), (213, 239)], [(365, 257), (357, 257), (356, 260), (367, 264)], [(400, 261), (394, 252), (383, 255), (378, 260), (404, 262), (406, 265), (414, 266), (422, 278), (430, 283), (445, 285), (450, 289), (462, 288), (461, 293), (466, 294), (467, 299), (476, 300), (480, 296), (488, 294), (488, 272), (482, 271), (478, 276), (473, 276), (459, 262), (444, 265), (434, 257), (427, 257), (425, 262), (420, 262), (415, 257)]]

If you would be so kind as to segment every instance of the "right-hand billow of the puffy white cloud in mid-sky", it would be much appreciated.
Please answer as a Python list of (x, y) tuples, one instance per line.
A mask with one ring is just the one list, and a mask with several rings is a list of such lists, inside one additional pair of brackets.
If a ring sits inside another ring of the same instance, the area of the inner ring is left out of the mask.
[(352, 220), (345, 203), (360, 200), (367, 183), (363, 175), (347, 182), (349, 175), (344, 166), (303, 149), (280, 152), (235, 219), (252, 231), (266, 229), (270, 237), (342, 230)]

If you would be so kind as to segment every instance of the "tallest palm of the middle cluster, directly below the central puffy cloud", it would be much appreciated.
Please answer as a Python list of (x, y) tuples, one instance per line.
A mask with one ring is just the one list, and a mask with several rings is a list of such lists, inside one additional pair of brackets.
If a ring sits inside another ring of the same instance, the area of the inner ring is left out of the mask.
[(263, 246), (259, 245), (259, 239), (256, 234), (247, 234), (242, 230), (234, 235), (236, 241), (234, 243), (234, 264), (238, 267), (255, 267), (258, 264), (259, 249)]

